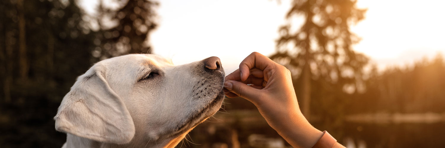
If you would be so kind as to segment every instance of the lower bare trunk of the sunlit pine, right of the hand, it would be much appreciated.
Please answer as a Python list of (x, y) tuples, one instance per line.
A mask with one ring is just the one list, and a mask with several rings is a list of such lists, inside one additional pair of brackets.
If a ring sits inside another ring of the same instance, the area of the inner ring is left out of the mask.
[(304, 117), (309, 120), (311, 117), (311, 67), (308, 60), (304, 63), (301, 80), (301, 100), (303, 102), (301, 108)]

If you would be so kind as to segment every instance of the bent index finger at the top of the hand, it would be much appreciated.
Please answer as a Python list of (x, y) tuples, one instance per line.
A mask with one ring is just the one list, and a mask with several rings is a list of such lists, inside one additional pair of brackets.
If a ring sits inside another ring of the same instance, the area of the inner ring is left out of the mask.
[(264, 70), (267, 67), (271, 67), (275, 62), (266, 56), (258, 53), (252, 52), (249, 56), (247, 56), (241, 64), (239, 64), (239, 73), (241, 80), (244, 81), (250, 75), (251, 68), (258, 68), (260, 70)]

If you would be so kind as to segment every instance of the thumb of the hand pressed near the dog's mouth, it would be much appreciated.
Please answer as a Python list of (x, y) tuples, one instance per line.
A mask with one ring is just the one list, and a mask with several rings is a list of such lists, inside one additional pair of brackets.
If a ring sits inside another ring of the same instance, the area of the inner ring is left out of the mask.
[(234, 80), (226, 80), (224, 87), (230, 91), (238, 95), (239, 97), (242, 97), (244, 99), (247, 99), (251, 102), (255, 102), (255, 100), (260, 95), (260, 89), (250, 87), (247, 84), (234, 81)]

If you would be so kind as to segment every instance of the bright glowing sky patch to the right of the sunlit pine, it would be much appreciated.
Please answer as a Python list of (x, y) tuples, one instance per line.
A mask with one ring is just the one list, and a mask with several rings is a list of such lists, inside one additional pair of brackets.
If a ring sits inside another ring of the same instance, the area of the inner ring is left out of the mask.
[(439, 18), (445, 14), (444, 5), (442, 0), (358, 0), (357, 6), (368, 11), (363, 21), (351, 27), (362, 38), (354, 48), (380, 64), (384, 60), (406, 63), (444, 52), (445, 22)]

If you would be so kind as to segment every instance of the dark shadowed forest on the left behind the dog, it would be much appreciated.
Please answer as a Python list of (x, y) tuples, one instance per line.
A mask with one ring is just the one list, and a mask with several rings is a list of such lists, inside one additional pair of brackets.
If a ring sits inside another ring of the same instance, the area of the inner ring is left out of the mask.
[(77, 0), (0, 0), (0, 145), (61, 147), (53, 116), (77, 76), (94, 62), (150, 53), (151, 0), (100, 0), (97, 16)]

